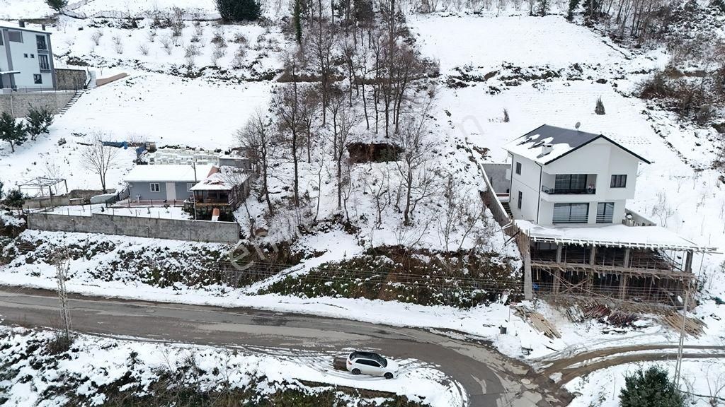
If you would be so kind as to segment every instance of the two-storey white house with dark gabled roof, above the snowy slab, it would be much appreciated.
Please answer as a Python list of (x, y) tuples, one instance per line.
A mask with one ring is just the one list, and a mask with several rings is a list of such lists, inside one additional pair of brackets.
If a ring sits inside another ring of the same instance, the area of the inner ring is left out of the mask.
[(504, 146), (514, 219), (537, 225), (612, 224), (650, 161), (605, 135), (542, 125)]

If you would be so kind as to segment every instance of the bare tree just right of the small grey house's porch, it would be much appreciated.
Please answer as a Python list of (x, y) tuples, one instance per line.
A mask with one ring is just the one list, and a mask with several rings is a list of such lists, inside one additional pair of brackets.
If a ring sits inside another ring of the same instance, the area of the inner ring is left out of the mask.
[(274, 207), (270, 200), (269, 192), (269, 167), (270, 159), (273, 156), (275, 144), (271, 133), (268, 119), (265, 119), (261, 111), (257, 110), (249, 118), (247, 125), (236, 132), (236, 140), (239, 146), (249, 154), (262, 175), (262, 196), (267, 202), (270, 216), (274, 216)]

